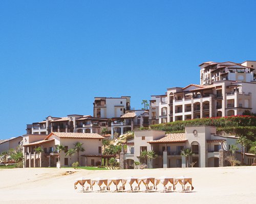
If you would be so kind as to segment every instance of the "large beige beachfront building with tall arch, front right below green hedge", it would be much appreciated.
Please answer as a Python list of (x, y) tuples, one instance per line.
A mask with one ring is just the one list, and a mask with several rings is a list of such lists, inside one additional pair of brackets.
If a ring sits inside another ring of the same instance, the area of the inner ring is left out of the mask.
[[(185, 133), (166, 134), (164, 131), (146, 130), (134, 131), (134, 139), (125, 143), (124, 168), (134, 168), (134, 161), (151, 165), (151, 160), (141, 158), (142, 151), (154, 150), (158, 155), (153, 160), (153, 168), (179, 168), (186, 167), (186, 158), (181, 156), (184, 148), (190, 148), (193, 155), (187, 163), (194, 163), (194, 167), (227, 166), (225, 157), (229, 154), (231, 144), (236, 144), (234, 136), (216, 135), (216, 127), (187, 126)], [(240, 145), (237, 145), (239, 149)], [(236, 157), (241, 161), (241, 152)], [(251, 165), (254, 155), (246, 154), (244, 163)]]

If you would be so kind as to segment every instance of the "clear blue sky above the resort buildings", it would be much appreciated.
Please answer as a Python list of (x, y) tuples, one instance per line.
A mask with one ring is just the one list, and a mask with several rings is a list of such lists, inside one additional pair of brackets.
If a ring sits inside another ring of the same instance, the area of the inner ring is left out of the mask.
[(0, 139), (94, 96), (199, 83), (204, 61), (256, 60), (255, 1), (1, 1)]

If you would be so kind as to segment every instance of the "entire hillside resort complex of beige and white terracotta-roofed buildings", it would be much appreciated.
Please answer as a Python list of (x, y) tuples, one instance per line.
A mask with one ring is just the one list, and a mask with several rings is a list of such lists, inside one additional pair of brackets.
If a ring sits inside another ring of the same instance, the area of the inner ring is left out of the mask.
[[(99, 166), (102, 160), (114, 157), (102, 154), (102, 140), (133, 131), (134, 138), (122, 144), (120, 168), (134, 168), (134, 162), (148, 168), (186, 167), (190, 163), (194, 167), (227, 166), (225, 157), (236, 144), (236, 135), (217, 134), (216, 127), (207, 125), (186, 126), (185, 133), (148, 129), (178, 120), (256, 113), (256, 61), (204, 62), (199, 67), (200, 84), (167, 88), (165, 93), (151, 96), (148, 108), (132, 108), (130, 96), (95, 97), (93, 115), (48, 116), (27, 124), (23, 137), (0, 142), (0, 153), (22, 143), (24, 167), (56, 166), (58, 161), (61, 166), (71, 166), (77, 160), (82, 166)], [(108, 133), (102, 134), (102, 129)], [(66, 156), (77, 142), (85, 150)], [(56, 145), (65, 146), (65, 150), (58, 152)], [(39, 146), (42, 151), (36, 154)], [(235, 156), (241, 160), (241, 145), (237, 146)], [(191, 157), (181, 155), (185, 148), (193, 151)], [(140, 157), (145, 150), (154, 150), (158, 157), (153, 161)], [(253, 154), (245, 153), (244, 164), (251, 165), (253, 159)]]

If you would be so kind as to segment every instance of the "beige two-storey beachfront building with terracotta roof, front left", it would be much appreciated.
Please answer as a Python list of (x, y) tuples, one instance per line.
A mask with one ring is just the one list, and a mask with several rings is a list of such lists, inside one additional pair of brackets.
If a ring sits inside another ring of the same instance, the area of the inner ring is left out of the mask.
[[(77, 142), (82, 143), (84, 151), (79, 152), (79, 164), (81, 166), (101, 165), (101, 147), (104, 137), (96, 133), (61, 133), (53, 132), (49, 135), (24, 135), (24, 167), (49, 167), (56, 166), (60, 159), (61, 166), (71, 166), (77, 162), (77, 152), (70, 158), (66, 152), (74, 148)], [(65, 150), (56, 151), (56, 145), (65, 146)], [(35, 148), (41, 147), (41, 153), (36, 154)], [(111, 156), (113, 157), (113, 156)]]

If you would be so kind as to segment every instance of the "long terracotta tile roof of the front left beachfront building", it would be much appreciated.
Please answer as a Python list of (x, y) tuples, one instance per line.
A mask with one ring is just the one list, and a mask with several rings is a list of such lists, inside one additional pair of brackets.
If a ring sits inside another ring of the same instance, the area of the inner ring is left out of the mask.
[(103, 136), (97, 133), (59, 133), (52, 132), (46, 137), (47, 140), (51, 135), (56, 135), (59, 138), (81, 138), (81, 139), (105, 139)]

